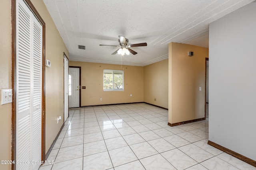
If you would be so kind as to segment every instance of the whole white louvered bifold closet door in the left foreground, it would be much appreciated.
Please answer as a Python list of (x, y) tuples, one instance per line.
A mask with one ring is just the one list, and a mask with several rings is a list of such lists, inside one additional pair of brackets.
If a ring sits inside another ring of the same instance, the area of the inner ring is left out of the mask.
[(16, 164), (38, 169), (42, 145), (42, 25), (23, 0), (16, 0)]

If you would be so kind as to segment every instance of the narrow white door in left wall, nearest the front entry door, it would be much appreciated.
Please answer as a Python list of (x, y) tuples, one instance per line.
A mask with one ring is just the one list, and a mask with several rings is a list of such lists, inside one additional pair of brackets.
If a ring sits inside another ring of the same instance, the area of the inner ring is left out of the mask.
[(68, 59), (64, 55), (64, 122), (68, 118)]

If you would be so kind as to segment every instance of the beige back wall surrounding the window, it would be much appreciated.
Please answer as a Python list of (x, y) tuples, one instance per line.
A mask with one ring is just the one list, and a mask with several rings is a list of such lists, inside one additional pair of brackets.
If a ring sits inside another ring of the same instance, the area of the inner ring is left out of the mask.
[[(143, 67), (70, 61), (81, 66), (81, 106), (143, 102)], [(103, 69), (124, 70), (124, 91), (103, 91)], [(132, 97), (130, 97), (132, 94)], [(102, 98), (102, 101), (100, 101)]]

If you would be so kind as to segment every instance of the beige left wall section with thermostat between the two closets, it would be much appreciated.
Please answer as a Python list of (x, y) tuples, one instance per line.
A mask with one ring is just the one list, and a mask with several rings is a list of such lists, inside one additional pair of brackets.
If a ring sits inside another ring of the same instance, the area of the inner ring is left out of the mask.
[[(43, 0), (31, 0), (32, 4), (46, 24), (46, 51), (45, 57), (51, 61), (51, 67), (45, 68), (46, 92), (46, 152), (56, 138), (64, 123), (64, 61), (65, 54), (69, 56), (52, 17)], [(63, 119), (57, 124), (57, 117)]]

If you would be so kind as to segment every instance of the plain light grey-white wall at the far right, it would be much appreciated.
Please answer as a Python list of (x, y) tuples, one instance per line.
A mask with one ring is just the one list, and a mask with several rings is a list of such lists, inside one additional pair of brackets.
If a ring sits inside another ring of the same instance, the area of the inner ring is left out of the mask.
[(256, 160), (256, 2), (210, 23), (209, 140)]

